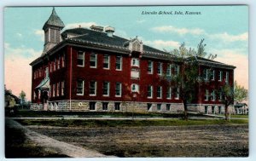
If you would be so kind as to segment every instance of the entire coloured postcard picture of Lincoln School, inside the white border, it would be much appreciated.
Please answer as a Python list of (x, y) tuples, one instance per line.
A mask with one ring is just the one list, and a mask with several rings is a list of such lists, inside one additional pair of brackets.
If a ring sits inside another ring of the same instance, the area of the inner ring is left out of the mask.
[(6, 158), (247, 157), (248, 6), (5, 7)]

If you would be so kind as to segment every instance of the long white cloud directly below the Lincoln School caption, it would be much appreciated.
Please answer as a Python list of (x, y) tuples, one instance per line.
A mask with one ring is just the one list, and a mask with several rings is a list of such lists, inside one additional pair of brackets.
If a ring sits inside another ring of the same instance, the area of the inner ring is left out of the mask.
[(205, 33), (205, 31), (200, 28), (189, 29), (184, 27), (177, 28), (175, 26), (157, 26), (157, 27), (153, 27), (152, 30), (154, 32), (174, 32), (179, 35), (184, 35), (184, 34), (201, 35)]

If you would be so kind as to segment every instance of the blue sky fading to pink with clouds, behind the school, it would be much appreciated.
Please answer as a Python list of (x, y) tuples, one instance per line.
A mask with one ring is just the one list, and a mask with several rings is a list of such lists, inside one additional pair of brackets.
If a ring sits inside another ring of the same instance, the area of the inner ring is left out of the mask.
[[(42, 54), (44, 23), (51, 7), (4, 8), (4, 83), (13, 94), (26, 92), (31, 99), (32, 67)], [(248, 7), (236, 6), (141, 6), (55, 7), (67, 28), (91, 25), (113, 26), (120, 37), (138, 37), (144, 44), (171, 51), (181, 43), (196, 49), (204, 38), (208, 55), (236, 66), (235, 80), (248, 89)], [(142, 14), (143, 12), (157, 14)], [(158, 14), (159, 12), (172, 14)], [(175, 14), (182, 12), (183, 14)], [(200, 12), (201, 14), (185, 14)]]

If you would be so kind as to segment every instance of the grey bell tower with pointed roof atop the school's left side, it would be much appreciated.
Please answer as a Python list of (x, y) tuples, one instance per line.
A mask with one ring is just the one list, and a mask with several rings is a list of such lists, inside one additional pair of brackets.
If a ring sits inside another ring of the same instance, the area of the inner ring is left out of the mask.
[(55, 8), (52, 9), (52, 13), (49, 19), (44, 23), (44, 51), (47, 53), (49, 49), (52, 49), (57, 43), (61, 42), (61, 30), (64, 28), (64, 23), (61, 18), (56, 14)]

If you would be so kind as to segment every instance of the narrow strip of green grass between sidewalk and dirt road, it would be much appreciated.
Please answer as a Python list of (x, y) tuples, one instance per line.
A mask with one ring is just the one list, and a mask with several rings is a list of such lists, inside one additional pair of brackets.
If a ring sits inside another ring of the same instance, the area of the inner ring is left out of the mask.
[(157, 120), (16, 120), (23, 125), (44, 125), (60, 127), (135, 127), (135, 126), (188, 126), (207, 124), (248, 124), (248, 120), (179, 120), (179, 119), (157, 119)]

